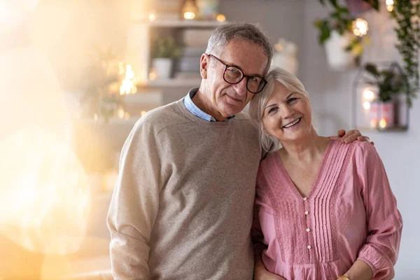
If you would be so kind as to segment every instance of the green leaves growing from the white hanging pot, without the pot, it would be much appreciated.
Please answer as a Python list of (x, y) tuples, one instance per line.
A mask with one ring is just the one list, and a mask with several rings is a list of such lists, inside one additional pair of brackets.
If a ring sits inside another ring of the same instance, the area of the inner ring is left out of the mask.
[[(379, 3), (377, 0), (363, 0), (369, 3), (375, 10), (379, 10)], [(319, 0), (319, 2), (325, 5), (325, 0)], [(351, 41), (349, 45), (344, 48), (347, 52), (351, 52), (353, 57), (360, 57), (363, 53), (363, 43), (368, 43), (367, 39), (360, 38), (353, 34), (352, 23), (356, 18), (351, 15), (349, 8), (343, 5), (339, 5), (337, 0), (329, 0), (333, 10), (330, 12), (327, 18), (316, 20), (314, 26), (318, 29), (318, 42), (323, 45), (325, 41), (330, 38), (332, 31), (337, 31), (340, 35), (344, 35), (346, 32), (351, 34)], [(365, 40), (365, 41), (364, 41)]]

